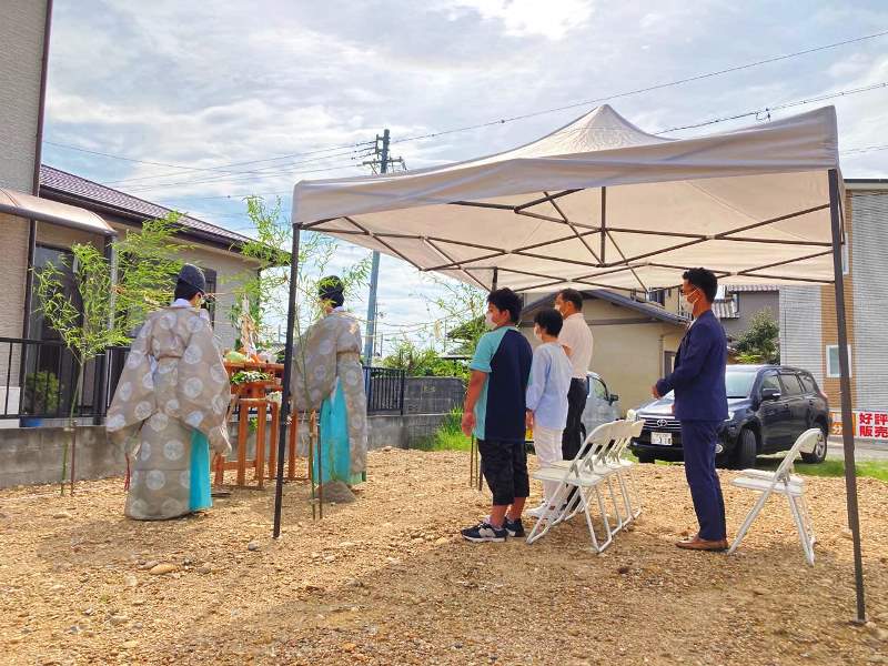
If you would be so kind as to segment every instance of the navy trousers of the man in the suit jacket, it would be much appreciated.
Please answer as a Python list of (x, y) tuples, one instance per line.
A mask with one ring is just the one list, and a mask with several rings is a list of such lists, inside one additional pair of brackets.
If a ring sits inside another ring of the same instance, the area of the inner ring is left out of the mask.
[(682, 447), (685, 451), (685, 476), (690, 486), (694, 511), (700, 524), (699, 537), (720, 541), (727, 537), (725, 500), (715, 472), (715, 445), (718, 421), (683, 421)]

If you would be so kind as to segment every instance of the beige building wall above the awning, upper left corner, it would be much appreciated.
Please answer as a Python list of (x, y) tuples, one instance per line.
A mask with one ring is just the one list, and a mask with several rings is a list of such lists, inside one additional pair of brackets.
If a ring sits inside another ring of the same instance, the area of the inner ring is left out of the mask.
[(0, 2), (0, 186), (31, 192), (46, 0)]

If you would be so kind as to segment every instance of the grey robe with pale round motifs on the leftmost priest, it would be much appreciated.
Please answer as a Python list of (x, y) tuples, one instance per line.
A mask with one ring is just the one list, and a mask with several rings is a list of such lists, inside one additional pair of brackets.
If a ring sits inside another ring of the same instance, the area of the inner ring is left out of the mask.
[(214, 451), (231, 453), (230, 402), (229, 376), (205, 311), (151, 313), (130, 347), (105, 421), (111, 438), (125, 443), (128, 460), (135, 455), (128, 517), (190, 513), (192, 435), (196, 430)]

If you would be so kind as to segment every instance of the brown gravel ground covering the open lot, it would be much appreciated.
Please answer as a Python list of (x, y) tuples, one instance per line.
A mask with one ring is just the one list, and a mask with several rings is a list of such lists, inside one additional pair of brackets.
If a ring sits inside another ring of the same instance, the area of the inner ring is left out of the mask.
[[(840, 478), (808, 480), (810, 568), (778, 500), (736, 555), (678, 551), (695, 525), (678, 466), (640, 467), (645, 512), (602, 556), (578, 519), (533, 546), (463, 543), (487, 502), (467, 473), (465, 453), (372, 453), (357, 502), (323, 521), (287, 484), (279, 542), (271, 491), (164, 523), (127, 521), (119, 478), (0, 492), (0, 662), (888, 664), (881, 482), (859, 482), (860, 627)], [(733, 532), (751, 497), (730, 476)]]

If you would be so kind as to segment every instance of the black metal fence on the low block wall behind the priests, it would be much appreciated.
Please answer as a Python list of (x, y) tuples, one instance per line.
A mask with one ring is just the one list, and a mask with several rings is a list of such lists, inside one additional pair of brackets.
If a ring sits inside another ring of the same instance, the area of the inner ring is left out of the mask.
[[(87, 362), (83, 391), (73, 405), (78, 418), (101, 423), (117, 390), (129, 347), (111, 347)], [(71, 414), (77, 386), (77, 359), (62, 342), (0, 337), (0, 418), (22, 418), (37, 425)], [(401, 370), (364, 367), (369, 414), (403, 414)]]

